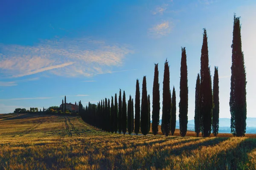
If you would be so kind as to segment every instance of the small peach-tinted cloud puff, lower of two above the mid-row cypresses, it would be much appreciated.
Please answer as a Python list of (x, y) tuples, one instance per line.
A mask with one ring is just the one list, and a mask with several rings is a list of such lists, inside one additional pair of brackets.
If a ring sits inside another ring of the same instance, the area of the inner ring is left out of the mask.
[(148, 35), (151, 37), (160, 38), (170, 34), (173, 28), (173, 23), (171, 21), (163, 21), (152, 28), (148, 29)]

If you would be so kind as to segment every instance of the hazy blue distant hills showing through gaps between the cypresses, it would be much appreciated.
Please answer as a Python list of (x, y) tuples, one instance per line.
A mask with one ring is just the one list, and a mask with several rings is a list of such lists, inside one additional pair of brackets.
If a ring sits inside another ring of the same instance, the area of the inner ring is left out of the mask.
[[(151, 121), (152, 122), (152, 121)], [(159, 125), (162, 124), (162, 120), (159, 121)], [(176, 129), (180, 128), (179, 120), (176, 120)], [(195, 130), (194, 119), (188, 121), (188, 130)], [(219, 133), (230, 133), (230, 119), (220, 118), (219, 119)], [(246, 119), (246, 133), (256, 133), (256, 118), (247, 117)]]

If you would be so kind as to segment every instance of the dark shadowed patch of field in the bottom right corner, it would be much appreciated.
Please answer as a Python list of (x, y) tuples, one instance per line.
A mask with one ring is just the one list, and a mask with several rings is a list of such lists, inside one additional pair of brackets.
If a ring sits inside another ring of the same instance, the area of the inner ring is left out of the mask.
[(255, 164), (250, 163), (248, 153), (256, 149), (256, 139), (247, 138), (241, 141), (236, 147), (228, 150), (221, 150), (213, 159), (212, 164), (204, 165), (209, 166), (208, 169), (215, 168), (217, 170), (242, 170), (242, 169), (254, 169)]

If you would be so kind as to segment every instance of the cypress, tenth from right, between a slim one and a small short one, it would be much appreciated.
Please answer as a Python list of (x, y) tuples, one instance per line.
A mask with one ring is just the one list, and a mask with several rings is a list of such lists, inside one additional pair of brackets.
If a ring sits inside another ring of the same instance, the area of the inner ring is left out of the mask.
[(142, 98), (141, 98), (141, 125), (140, 130), (143, 135), (148, 134), (148, 94), (146, 77), (143, 77)]

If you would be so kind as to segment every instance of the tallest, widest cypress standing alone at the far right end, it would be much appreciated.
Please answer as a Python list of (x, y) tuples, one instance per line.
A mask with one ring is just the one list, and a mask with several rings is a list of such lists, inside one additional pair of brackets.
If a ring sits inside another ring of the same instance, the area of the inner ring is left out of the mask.
[(231, 133), (234, 136), (244, 136), (246, 132), (246, 73), (244, 68), (244, 54), (241, 43), (240, 17), (234, 15), (232, 65), (231, 65), (231, 91), (230, 113)]

